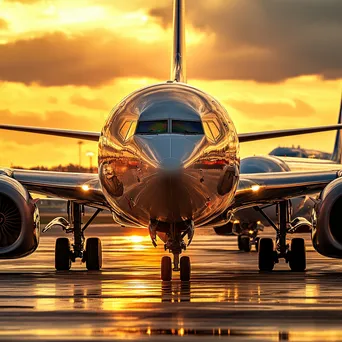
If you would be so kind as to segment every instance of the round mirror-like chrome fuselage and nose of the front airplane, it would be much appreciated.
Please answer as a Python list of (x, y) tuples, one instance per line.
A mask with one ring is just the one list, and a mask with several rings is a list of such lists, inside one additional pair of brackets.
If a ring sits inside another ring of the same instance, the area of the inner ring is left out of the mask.
[(163, 83), (134, 92), (113, 109), (100, 138), (99, 176), (123, 225), (193, 220), (201, 226), (232, 202), (238, 152), (223, 106), (196, 88)]

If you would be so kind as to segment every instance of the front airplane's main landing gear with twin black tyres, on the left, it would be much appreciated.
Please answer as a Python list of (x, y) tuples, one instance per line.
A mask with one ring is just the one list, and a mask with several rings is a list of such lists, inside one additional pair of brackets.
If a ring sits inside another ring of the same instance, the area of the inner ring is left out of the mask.
[[(89, 271), (97, 271), (102, 267), (102, 246), (99, 238), (88, 238), (85, 243), (84, 232), (90, 223), (102, 211), (97, 209), (88, 222), (82, 227), (82, 214), (84, 214), (83, 205), (69, 202), (68, 217), (66, 220), (58, 217), (52, 220), (43, 230), (46, 232), (52, 226), (61, 226), (66, 233), (73, 233), (74, 243), (71, 245), (68, 238), (58, 238), (55, 247), (55, 268), (57, 271), (68, 271), (71, 263), (77, 258), (85, 262)], [(69, 222), (72, 222), (70, 224)]]

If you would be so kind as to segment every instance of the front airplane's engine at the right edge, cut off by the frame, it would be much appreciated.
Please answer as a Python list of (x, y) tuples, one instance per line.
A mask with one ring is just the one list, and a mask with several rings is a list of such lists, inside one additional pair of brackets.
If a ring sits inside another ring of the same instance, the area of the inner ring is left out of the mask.
[(329, 183), (312, 213), (312, 242), (322, 255), (342, 258), (342, 178)]

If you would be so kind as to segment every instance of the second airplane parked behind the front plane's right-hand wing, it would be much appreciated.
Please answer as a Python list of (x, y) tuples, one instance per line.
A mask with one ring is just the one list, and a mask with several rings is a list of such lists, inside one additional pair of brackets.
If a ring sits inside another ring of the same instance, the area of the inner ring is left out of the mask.
[[(342, 123), (342, 97), (337, 123)], [(342, 150), (342, 141), (339, 134), (339, 131), (337, 131), (332, 154), (294, 147), (278, 147), (266, 156), (249, 156), (241, 159), (240, 173), (342, 169), (341, 154), (339, 152)], [(327, 158), (323, 159), (322, 157)], [(311, 232), (312, 224), (309, 220), (311, 220), (315, 204), (312, 196), (292, 198), (290, 204), (292, 218), (296, 220), (296, 229), (293, 232)], [(255, 246), (258, 251), (259, 233), (264, 230), (265, 226), (270, 226), (270, 220), (276, 221), (278, 219), (277, 213), (277, 205), (271, 205), (264, 209), (263, 214), (266, 214), (267, 217), (253, 208), (238, 210), (227, 224), (215, 226), (214, 231), (217, 235), (237, 235), (237, 246), (240, 251), (250, 252), (252, 246)]]

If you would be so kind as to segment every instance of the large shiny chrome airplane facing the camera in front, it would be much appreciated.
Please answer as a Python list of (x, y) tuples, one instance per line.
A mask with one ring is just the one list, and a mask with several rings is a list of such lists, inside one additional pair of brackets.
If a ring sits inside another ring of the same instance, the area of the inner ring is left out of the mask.
[[(304, 240), (295, 229), (289, 200), (320, 193), (316, 199), (313, 241), (320, 253), (342, 256), (339, 205), (342, 172), (289, 171), (241, 174), (239, 144), (263, 139), (341, 129), (341, 124), (238, 134), (226, 109), (211, 95), (186, 83), (185, 0), (174, 0), (174, 43), (170, 80), (139, 89), (110, 112), (101, 132), (0, 125), (1, 129), (98, 142), (98, 174), (6, 169), (0, 175), (0, 258), (31, 254), (41, 232), (61, 226), (73, 244), (60, 237), (55, 268), (66, 271), (81, 259), (87, 270), (102, 267), (100, 239), (85, 239), (87, 227), (103, 209), (122, 226), (148, 229), (173, 255), (161, 259), (161, 279), (180, 272), (191, 278), (191, 263), (181, 254), (195, 229), (227, 223), (239, 209), (277, 204), (276, 240), (259, 241), (260, 271), (272, 271), (285, 259), (292, 271), (304, 271)], [(339, 156), (341, 151), (338, 151)], [(55, 218), (41, 231), (30, 193), (68, 200), (68, 219)], [(84, 206), (96, 208), (82, 223)], [(329, 221), (331, 218), (332, 222)]]

